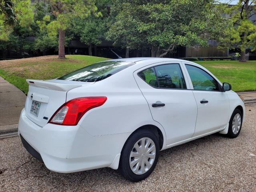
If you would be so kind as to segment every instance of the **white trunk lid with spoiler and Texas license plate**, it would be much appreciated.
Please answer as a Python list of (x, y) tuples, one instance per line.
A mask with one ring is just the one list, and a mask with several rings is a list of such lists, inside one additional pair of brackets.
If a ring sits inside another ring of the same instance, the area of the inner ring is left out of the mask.
[(93, 82), (77, 82), (69, 80), (26, 80), (29, 84), (26, 98), (26, 116), (43, 127), (56, 110), (66, 102), (69, 90), (93, 84)]

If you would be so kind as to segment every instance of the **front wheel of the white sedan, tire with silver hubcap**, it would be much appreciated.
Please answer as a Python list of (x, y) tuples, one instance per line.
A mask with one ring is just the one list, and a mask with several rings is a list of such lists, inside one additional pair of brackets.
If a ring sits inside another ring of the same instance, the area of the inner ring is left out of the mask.
[[(239, 120), (239, 117), (240, 117), (240, 121), (237, 121)], [(235, 109), (229, 120), (228, 134), (227, 134), (228, 137), (236, 138), (239, 135), (242, 128), (242, 120), (243, 120), (242, 112), (239, 109)], [(240, 128), (238, 130), (237, 125), (239, 124), (240, 124)], [(235, 126), (236, 129), (233, 128), (233, 125)]]

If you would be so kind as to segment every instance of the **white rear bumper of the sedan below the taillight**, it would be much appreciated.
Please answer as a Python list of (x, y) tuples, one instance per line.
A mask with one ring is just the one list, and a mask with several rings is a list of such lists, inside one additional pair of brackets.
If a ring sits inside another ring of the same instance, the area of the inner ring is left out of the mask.
[(95, 168), (117, 169), (122, 146), (130, 133), (91, 136), (79, 125), (46, 124), (40, 127), (20, 114), (18, 133), (24, 147), (46, 167), (55, 172), (69, 173)]

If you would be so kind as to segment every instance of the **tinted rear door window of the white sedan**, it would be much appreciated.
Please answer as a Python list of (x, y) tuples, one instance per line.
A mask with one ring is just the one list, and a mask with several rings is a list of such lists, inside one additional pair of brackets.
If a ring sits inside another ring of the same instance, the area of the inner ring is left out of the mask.
[(186, 83), (179, 64), (164, 64), (148, 68), (138, 75), (156, 88), (186, 89)]

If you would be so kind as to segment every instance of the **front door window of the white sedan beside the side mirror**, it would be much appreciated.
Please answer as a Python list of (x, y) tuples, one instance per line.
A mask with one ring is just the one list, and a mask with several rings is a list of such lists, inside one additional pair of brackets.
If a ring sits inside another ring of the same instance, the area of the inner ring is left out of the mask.
[(186, 65), (194, 90), (218, 91), (218, 82), (204, 70)]

